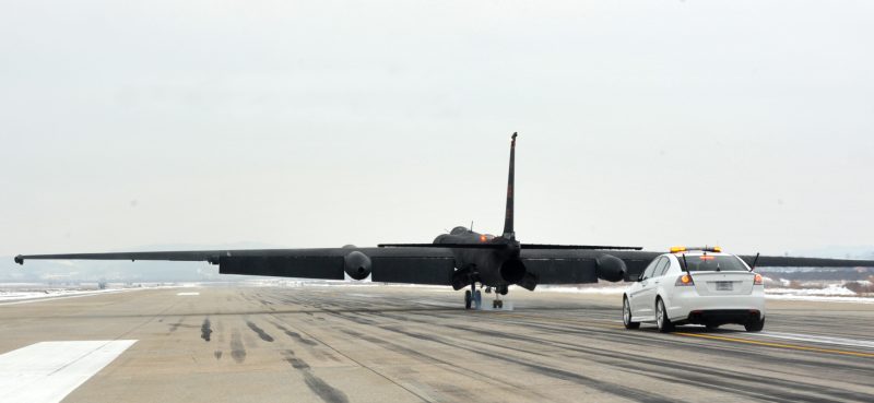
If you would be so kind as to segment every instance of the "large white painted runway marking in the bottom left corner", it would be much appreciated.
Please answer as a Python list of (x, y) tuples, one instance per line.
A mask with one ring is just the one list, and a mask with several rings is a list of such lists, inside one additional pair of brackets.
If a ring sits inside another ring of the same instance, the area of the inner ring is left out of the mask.
[(43, 342), (0, 355), (0, 402), (60, 402), (133, 343)]

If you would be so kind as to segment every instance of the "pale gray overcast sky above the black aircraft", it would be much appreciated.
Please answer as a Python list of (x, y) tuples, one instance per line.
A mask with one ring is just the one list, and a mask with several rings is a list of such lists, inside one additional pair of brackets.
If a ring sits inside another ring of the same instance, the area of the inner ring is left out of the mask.
[(871, 1), (0, 10), (0, 254), (874, 245)]

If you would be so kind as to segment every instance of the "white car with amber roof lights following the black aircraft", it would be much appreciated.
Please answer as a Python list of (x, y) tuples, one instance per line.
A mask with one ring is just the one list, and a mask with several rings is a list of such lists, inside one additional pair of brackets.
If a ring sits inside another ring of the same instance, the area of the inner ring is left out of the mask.
[(623, 295), (623, 323), (637, 329), (656, 322), (670, 332), (678, 324), (765, 327), (761, 274), (720, 248), (671, 248), (656, 258)]

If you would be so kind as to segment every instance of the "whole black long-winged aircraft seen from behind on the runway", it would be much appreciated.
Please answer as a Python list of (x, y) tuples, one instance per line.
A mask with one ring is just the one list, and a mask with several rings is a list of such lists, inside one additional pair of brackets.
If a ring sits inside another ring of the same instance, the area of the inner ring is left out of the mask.
[[(637, 280), (646, 266), (664, 252), (638, 247), (521, 244), (513, 230), (513, 171), (516, 137), (510, 143), (507, 209), (500, 236), (477, 234), (456, 227), (432, 244), (383, 244), (377, 248), (197, 250), (162, 252), (72, 253), (17, 256), (31, 259), (169, 260), (208, 261), (218, 273), (281, 277), (355, 280), (368, 275), (374, 282), (451, 285), (465, 292), (465, 308), (482, 300), (477, 283), (495, 289), (493, 307), (500, 308), (500, 295), (510, 285), (534, 291), (539, 284), (594, 283)], [(870, 260), (813, 259), (742, 256), (755, 266), (874, 266)]]

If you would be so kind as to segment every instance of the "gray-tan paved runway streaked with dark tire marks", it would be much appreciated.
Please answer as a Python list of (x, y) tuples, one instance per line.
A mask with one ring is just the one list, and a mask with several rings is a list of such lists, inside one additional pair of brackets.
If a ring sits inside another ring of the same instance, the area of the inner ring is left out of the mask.
[(0, 305), (0, 363), (123, 343), (71, 403), (874, 401), (872, 305), (768, 301), (761, 334), (661, 334), (625, 330), (616, 295), (508, 297), (465, 311), (441, 288), (212, 286)]

